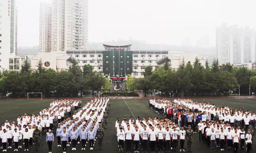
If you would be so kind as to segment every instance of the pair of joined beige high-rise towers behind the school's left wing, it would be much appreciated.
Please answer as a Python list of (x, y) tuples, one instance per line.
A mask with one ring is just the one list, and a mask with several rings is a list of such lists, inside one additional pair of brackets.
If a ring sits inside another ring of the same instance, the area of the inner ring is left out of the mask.
[[(87, 49), (88, 0), (53, 0), (51, 6), (46, 6), (41, 3), (40, 51)], [(47, 22), (49, 16), (51, 20)], [(48, 31), (49, 37), (45, 37)]]

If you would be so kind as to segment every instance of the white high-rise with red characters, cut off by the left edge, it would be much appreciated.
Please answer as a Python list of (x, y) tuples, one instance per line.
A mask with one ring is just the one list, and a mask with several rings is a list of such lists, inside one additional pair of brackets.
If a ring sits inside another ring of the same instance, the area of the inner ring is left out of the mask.
[(17, 54), (16, 0), (0, 0), (0, 68), (9, 69), (9, 56)]

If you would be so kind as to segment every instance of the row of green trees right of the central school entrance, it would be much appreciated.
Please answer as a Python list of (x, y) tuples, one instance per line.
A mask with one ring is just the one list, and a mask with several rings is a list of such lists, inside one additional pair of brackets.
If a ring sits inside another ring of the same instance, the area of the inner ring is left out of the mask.
[(153, 91), (160, 91), (164, 96), (172, 92), (176, 96), (229, 95), (238, 94), (239, 89), (240, 94), (248, 95), (249, 90), (250, 94), (256, 90), (256, 71), (236, 68), (230, 63), (219, 65), (218, 59), (214, 59), (212, 65), (208, 61), (202, 65), (198, 58), (192, 64), (183, 59), (179, 68), (174, 70), (166, 60), (154, 71), (147, 66), (143, 78), (128, 76), (126, 86), (129, 90), (143, 91), (145, 96)]

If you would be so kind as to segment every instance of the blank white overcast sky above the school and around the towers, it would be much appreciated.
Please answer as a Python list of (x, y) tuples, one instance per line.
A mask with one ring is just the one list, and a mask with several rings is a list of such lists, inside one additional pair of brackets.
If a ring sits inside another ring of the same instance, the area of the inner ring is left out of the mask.
[[(18, 46), (39, 45), (39, 5), (17, 0)], [(256, 0), (89, 0), (89, 41), (117, 39), (182, 45), (209, 37), (226, 22), (256, 28)], [(203, 37), (203, 38), (201, 38)]]

